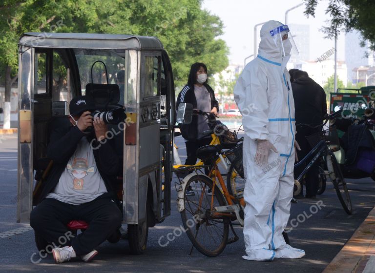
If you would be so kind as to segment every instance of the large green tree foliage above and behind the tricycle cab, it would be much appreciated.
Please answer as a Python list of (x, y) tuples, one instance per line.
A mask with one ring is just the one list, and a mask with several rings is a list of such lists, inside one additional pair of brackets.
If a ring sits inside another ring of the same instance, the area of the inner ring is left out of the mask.
[(25, 32), (134, 34), (162, 41), (182, 86), (196, 61), (205, 62), (209, 74), (228, 65), (228, 47), (217, 39), (222, 29), (217, 16), (201, 9), (201, 0), (2, 0), (0, 71), (11, 67), (17, 77), (17, 42)]

